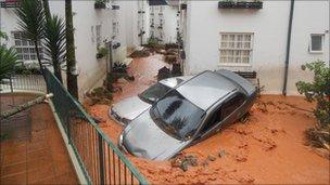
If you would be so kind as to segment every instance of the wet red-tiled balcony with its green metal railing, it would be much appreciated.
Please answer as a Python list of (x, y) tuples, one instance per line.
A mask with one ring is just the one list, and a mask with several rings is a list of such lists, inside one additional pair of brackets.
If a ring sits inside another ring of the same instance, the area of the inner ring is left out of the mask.
[(1, 120), (0, 184), (148, 184), (54, 75), (43, 75), (1, 81), (1, 110), (53, 97)]

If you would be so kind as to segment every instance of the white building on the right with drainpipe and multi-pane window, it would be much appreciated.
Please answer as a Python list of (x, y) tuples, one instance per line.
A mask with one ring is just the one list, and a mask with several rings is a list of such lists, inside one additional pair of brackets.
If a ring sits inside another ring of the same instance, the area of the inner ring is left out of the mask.
[[(181, 11), (185, 72), (220, 68), (256, 71), (264, 93), (282, 93), (291, 2), (256, 3), (262, 3), (262, 9), (259, 4), (229, 9), (221, 2), (219, 8), (219, 1), (187, 1), (187, 10)], [(297, 93), (297, 81), (312, 79), (301, 70), (302, 64), (329, 62), (329, 1), (294, 3), (288, 94)]]

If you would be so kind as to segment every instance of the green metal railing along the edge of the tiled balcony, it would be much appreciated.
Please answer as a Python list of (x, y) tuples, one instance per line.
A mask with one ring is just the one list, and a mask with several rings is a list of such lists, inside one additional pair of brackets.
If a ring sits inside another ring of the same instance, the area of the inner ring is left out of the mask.
[(55, 111), (89, 184), (148, 184), (81, 105), (45, 69)]

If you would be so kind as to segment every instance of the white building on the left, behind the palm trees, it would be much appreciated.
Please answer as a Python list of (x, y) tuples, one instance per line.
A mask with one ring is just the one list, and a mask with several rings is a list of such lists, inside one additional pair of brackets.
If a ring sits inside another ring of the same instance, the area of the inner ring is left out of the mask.
[[(64, 0), (49, 1), (52, 14), (65, 18)], [(94, 1), (73, 1), (75, 47), (78, 68), (79, 95), (100, 85), (112, 62), (124, 62), (127, 49), (139, 43), (137, 24), (137, 1), (112, 0), (106, 9), (94, 9)], [(15, 8), (0, 9), (1, 30), (9, 36), (8, 45), (15, 47), (26, 63), (36, 61), (34, 45), (22, 40), (17, 29)], [(110, 47), (109, 44), (112, 44)], [(111, 48), (111, 57), (97, 60), (98, 47)], [(65, 75), (63, 74), (63, 77)]]

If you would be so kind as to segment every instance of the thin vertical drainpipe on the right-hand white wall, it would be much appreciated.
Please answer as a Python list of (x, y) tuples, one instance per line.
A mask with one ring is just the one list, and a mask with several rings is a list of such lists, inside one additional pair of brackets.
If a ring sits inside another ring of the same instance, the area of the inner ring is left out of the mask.
[(283, 95), (287, 95), (287, 83), (288, 83), (288, 71), (289, 71), (289, 58), (290, 58), (290, 45), (291, 45), (291, 30), (292, 30), (293, 10), (294, 10), (294, 0), (291, 0), (291, 4), (290, 4), (290, 17), (289, 17), (289, 28), (288, 28), (288, 40), (287, 40), (284, 83), (283, 83), (283, 90), (282, 90), (282, 94)]

